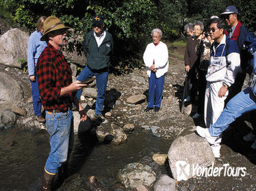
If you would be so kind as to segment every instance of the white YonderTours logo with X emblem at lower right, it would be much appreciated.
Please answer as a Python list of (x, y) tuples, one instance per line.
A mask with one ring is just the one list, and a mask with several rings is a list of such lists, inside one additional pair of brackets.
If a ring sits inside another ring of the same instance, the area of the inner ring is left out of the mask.
[(187, 180), (190, 177), (244, 177), (246, 175), (246, 167), (233, 167), (229, 164), (222, 166), (202, 167), (199, 164), (188, 164), (183, 160), (178, 160), (175, 163), (177, 170), (177, 181)]

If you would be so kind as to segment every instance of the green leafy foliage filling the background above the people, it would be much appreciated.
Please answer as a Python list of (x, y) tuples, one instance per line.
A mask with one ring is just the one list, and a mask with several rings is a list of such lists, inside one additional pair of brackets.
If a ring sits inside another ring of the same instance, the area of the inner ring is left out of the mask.
[[(163, 40), (174, 40), (183, 36), (186, 23), (202, 20), (206, 24), (210, 16), (218, 16), (227, 5), (238, 8), (240, 20), (249, 31), (255, 29), (255, 0), (0, 0), (1, 8), (30, 31), (34, 31), (40, 16), (57, 16), (75, 34), (84, 36), (92, 29), (92, 17), (102, 14), (105, 28), (114, 37), (112, 65), (120, 73), (143, 65), (142, 53), (152, 42), (152, 29), (162, 29)], [(77, 38), (68, 50), (76, 47), (82, 53), (82, 43)]]

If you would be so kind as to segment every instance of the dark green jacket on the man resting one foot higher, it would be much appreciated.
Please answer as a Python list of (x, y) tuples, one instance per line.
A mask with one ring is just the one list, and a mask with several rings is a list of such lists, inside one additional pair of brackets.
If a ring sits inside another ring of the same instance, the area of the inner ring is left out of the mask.
[(110, 53), (113, 50), (114, 42), (112, 35), (107, 31), (101, 46), (98, 47), (94, 37), (94, 31), (87, 33), (84, 40), (84, 54), (86, 55), (87, 65), (92, 70), (101, 70), (110, 65)]

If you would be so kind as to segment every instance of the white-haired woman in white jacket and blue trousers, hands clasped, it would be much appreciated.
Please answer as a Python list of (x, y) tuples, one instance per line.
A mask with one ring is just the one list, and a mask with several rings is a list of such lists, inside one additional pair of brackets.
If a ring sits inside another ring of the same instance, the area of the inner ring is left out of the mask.
[(164, 88), (164, 77), (168, 72), (168, 48), (161, 42), (162, 31), (153, 29), (153, 42), (146, 46), (143, 60), (146, 65), (146, 74), (149, 76), (149, 100), (145, 112), (155, 109), (159, 111)]

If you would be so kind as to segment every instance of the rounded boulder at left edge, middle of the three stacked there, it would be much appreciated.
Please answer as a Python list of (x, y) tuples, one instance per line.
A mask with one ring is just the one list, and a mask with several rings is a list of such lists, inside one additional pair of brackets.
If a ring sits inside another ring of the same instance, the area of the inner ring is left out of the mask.
[(0, 111), (11, 109), (23, 99), (23, 89), (12, 76), (0, 72)]

